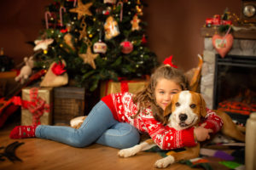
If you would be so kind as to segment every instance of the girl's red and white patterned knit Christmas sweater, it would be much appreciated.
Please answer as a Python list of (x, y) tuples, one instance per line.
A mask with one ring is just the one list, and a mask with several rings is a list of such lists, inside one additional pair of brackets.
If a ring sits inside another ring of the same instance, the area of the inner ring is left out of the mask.
[[(176, 129), (162, 125), (154, 119), (152, 111), (148, 108), (132, 119), (137, 113), (137, 105), (133, 103), (132, 94), (118, 93), (109, 94), (102, 98), (113, 113), (113, 117), (119, 122), (128, 122), (141, 133), (148, 133), (162, 150), (172, 150), (184, 146), (195, 146), (194, 127), (177, 131)], [(215, 112), (207, 110), (206, 128), (211, 128), (213, 133), (218, 132), (223, 125), (222, 120)]]

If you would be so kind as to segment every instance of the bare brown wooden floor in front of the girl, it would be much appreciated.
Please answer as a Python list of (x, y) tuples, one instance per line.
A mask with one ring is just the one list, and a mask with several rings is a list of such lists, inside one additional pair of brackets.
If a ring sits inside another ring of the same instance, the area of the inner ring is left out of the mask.
[[(92, 144), (86, 148), (73, 148), (67, 144), (61, 144), (46, 139), (9, 139), (14, 123), (0, 128), (0, 147), (7, 146), (15, 141), (24, 142), (16, 150), (16, 156), (22, 161), (0, 161), (0, 169), (86, 169), (86, 170), (148, 170), (154, 168), (154, 161), (161, 158), (157, 153), (142, 152), (130, 158), (120, 158), (117, 156), (119, 150)], [(0, 150), (3, 153), (3, 150)], [(174, 164), (166, 169), (190, 170), (191, 168)]]

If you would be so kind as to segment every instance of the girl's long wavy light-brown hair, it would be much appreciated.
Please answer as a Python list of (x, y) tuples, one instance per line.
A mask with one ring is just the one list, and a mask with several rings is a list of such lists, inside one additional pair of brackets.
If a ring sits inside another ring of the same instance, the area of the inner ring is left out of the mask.
[(154, 73), (151, 75), (148, 85), (133, 96), (133, 102), (138, 105), (136, 117), (140, 111), (150, 107), (154, 116), (154, 119), (161, 123), (166, 123), (166, 118), (163, 116), (163, 110), (160, 106), (156, 105), (154, 90), (157, 82), (160, 78), (166, 78), (176, 82), (182, 90), (189, 89), (189, 81), (183, 74), (183, 71), (173, 68), (169, 65), (160, 65)]

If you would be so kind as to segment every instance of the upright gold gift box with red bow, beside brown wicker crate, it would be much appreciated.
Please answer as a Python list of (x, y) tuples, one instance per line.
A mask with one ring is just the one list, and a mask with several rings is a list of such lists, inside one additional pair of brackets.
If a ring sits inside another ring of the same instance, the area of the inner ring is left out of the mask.
[(52, 88), (23, 88), (21, 125), (52, 124)]

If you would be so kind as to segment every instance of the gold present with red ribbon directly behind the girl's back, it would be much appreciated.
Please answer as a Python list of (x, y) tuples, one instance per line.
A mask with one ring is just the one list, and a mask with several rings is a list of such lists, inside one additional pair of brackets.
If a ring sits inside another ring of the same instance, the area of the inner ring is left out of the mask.
[(130, 92), (136, 94), (148, 84), (148, 80), (122, 80), (119, 82), (107, 81), (101, 84), (101, 98), (108, 94), (115, 94), (119, 92)]

